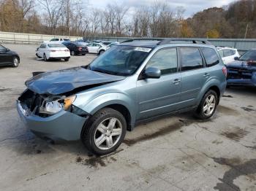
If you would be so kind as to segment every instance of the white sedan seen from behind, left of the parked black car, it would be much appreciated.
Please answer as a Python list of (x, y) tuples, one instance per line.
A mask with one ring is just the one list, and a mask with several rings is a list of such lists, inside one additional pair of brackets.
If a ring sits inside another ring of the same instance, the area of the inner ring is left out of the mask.
[(43, 58), (44, 61), (50, 59), (69, 61), (70, 52), (64, 44), (44, 42), (36, 50), (36, 55), (38, 58)]

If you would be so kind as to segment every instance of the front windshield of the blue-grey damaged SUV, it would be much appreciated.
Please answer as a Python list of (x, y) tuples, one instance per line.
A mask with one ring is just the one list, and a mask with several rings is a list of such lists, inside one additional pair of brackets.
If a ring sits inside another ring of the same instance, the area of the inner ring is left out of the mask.
[(151, 48), (114, 46), (96, 58), (89, 66), (93, 71), (129, 76), (135, 73), (148, 56)]

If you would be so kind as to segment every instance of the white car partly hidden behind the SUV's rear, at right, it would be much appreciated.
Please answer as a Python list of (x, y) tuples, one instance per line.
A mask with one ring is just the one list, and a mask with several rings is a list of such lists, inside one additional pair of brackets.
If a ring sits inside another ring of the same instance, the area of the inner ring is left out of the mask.
[(225, 64), (231, 63), (235, 61), (235, 58), (239, 58), (240, 55), (238, 53), (238, 50), (236, 48), (232, 47), (217, 47), (217, 50), (219, 52), (219, 55), (222, 57), (222, 61)]

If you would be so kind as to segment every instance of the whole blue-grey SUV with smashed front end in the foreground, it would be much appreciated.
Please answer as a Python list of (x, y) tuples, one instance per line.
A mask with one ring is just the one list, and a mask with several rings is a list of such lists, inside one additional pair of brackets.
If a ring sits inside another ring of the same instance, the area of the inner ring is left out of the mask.
[(207, 41), (129, 40), (89, 66), (37, 74), (18, 98), (30, 130), (113, 152), (138, 122), (173, 112), (210, 118), (226, 87), (226, 68)]

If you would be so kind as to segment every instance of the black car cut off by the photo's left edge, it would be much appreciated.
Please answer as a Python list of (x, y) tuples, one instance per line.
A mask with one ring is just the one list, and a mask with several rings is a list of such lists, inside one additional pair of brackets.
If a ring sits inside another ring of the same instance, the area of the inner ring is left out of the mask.
[(0, 44), (0, 66), (18, 67), (19, 63), (20, 56), (18, 53)]

